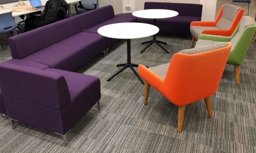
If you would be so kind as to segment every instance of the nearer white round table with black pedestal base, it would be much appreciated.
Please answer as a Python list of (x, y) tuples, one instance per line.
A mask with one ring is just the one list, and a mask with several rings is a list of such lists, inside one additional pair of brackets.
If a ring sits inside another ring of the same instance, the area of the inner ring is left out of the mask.
[(144, 38), (153, 36), (159, 32), (159, 28), (151, 24), (145, 23), (116, 23), (103, 26), (98, 29), (98, 33), (102, 36), (115, 39), (127, 39), (127, 63), (118, 64), (117, 67), (123, 66), (116, 74), (111, 76), (107, 81), (110, 81), (126, 68), (131, 68), (134, 74), (139, 78), (144, 85), (143, 80), (133, 67), (138, 67), (138, 64), (131, 62), (131, 39)]

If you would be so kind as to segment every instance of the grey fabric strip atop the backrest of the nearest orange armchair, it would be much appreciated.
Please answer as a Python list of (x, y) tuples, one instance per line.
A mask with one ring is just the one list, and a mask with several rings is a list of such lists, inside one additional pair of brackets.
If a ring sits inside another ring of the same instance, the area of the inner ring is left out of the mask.
[(204, 47), (197, 47), (197, 48), (192, 48), (192, 49), (188, 49), (188, 50), (182, 50), (182, 51), (180, 51), (180, 53), (198, 54), (198, 53), (202, 53), (202, 52), (217, 50), (219, 48), (223, 48), (223, 47), (227, 47), (227, 46), (228, 46), (228, 44), (226, 42), (221, 42), (221, 43), (211, 44), (211, 45), (204, 46)]

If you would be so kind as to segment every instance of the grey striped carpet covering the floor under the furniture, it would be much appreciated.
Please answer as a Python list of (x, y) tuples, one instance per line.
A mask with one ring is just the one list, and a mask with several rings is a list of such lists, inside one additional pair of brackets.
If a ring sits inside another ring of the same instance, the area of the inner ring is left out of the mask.
[[(9, 34), (8, 36), (11, 36)], [(152, 67), (170, 62), (173, 54), (190, 48), (191, 36), (159, 34), (167, 42), (166, 54), (157, 45), (141, 45), (151, 38), (132, 40), (132, 62)], [(6, 59), (10, 50), (4, 37), (0, 45)], [(256, 43), (251, 43), (241, 66), (241, 85), (227, 65), (219, 89), (212, 96), (214, 118), (208, 118), (203, 100), (185, 109), (183, 132), (177, 132), (178, 107), (153, 88), (143, 105), (144, 86), (130, 69), (106, 82), (126, 62), (126, 42), (110, 48), (78, 72), (101, 79), (101, 110), (95, 105), (67, 134), (68, 146), (48, 130), (15, 122), (0, 115), (0, 152), (256, 152)], [(3, 60), (1, 60), (3, 61)], [(137, 69), (136, 69), (137, 70)]]

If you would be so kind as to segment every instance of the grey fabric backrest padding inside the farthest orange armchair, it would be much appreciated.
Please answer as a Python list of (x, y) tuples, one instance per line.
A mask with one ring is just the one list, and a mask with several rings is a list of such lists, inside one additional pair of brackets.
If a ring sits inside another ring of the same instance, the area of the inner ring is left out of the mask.
[(236, 5), (224, 4), (221, 19), (219, 19), (215, 27), (221, 30), (229, 29), (240, 9), (242, 8)]

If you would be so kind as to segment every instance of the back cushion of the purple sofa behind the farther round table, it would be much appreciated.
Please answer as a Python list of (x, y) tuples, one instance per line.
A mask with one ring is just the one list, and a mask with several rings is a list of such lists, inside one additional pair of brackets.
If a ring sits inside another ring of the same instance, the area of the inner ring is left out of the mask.
[(145, 2), (144, 9), (170, 9), (177, 11), (180, 16), (202, 17), (201, 4), (187, 3), (162, 3), (162, 2)]

